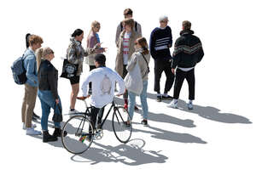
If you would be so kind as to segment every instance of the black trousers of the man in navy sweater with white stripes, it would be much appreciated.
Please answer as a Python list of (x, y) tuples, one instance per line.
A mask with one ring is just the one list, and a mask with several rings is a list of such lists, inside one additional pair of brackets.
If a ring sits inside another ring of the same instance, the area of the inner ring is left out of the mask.
[(160, 93), (160, 78), (162, 72), (165, 71), (166, 74), (166, 86), (165, 92), (168, 93), (174, 82), (174, 75), (172, 74), (172, 62), (166, 59), (154, 59), (154, 91)]

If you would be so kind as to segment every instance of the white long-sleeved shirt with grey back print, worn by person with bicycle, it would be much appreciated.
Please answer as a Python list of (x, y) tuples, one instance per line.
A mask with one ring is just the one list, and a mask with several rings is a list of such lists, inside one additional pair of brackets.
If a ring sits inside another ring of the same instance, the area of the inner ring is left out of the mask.
[[(90, 104), (96, 108), (102, 108), (104, 105), (113, 101), (115, 82), (119, 85), (119, 92), (117, 94), (125, 93), (125, 82), (123, 78), (108, 67), (98, 67), (89, 72), (82, 85), (84, 97), (87, 96), (89, 82), (92, 83)], [(110, 85), (109, 82), (111, 83)], [(103, 87), (104, 84), (105, 87)]]

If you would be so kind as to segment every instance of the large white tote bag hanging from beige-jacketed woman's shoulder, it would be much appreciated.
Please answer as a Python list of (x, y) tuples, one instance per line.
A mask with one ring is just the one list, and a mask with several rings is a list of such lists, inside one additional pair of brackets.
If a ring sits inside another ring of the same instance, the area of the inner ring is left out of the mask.
[(128, 91), (136, 93), (137, 95), (143, 92), (143, 77), (138, 63), (136, 63), (133, 70), (129, 71), (125, 76), (125, 87)]

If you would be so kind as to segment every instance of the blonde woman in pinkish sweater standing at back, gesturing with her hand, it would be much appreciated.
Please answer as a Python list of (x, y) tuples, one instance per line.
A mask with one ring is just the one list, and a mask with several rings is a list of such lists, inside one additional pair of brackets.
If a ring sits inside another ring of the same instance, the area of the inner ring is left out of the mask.
[[(90, 33), (87, 37), (87, 48), (94, 48), (97, 43), (101, 43), (100, 37), (97, 32), (101, 29), (101, 24), (98, 21), (93, 21), (91, 23)], [(95, 56), (96, 54), (100, 54), (106, 52), (106, 48), (99, 48), (96, 50), (95, 54), (90, 54), (86, 59), (85, 63), (89, 65), (90, 71), (96, 69), (95, 65)], [(89, 83), (89, 94), (91, 94), (91, 82)]]

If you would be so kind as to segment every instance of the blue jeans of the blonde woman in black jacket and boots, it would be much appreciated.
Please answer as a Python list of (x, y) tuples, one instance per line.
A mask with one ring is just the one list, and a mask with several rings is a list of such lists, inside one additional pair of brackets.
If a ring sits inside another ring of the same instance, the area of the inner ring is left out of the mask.
[[(61, 111), (55, 105), (55, 99), (52, 96), (52, 93), (50, 91), (41, 91), (38, 89), (38, 98), (41, 101), (41, 107), (42, 107), (42, 118), (41, 118), (41, 127), (43, 131), (48, 131), (48, 117), (49, 117), (49, 112), (50, 108), (54, 109), (55, 108), (55, 113), (60, 114)], [(62, 110), (61, 107), (61, 99), (59, 97), (60, 103), (58, 104)], [(61, 127), (60, 122), (54, 122), (55, 127)]]

